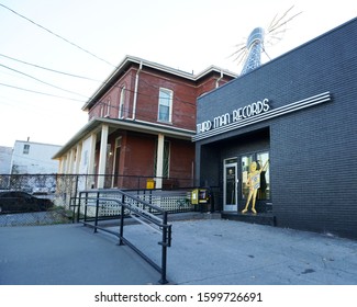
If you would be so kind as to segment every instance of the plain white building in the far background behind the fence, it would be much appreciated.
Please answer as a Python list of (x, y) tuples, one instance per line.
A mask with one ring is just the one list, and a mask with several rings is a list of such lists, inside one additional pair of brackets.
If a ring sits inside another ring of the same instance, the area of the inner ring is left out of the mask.
[(16, 140), (11, 159), (11, 174), (57, 173), (58, 161), (52, 157), (60, 149), (59, 145)]

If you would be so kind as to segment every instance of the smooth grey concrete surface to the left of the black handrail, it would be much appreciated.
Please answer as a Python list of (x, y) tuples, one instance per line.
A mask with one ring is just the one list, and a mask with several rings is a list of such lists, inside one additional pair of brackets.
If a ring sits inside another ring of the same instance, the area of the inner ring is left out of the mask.
[(156, 284), (157, 271), (116, 241), (81, 224), (2, 227), (0, 284)]

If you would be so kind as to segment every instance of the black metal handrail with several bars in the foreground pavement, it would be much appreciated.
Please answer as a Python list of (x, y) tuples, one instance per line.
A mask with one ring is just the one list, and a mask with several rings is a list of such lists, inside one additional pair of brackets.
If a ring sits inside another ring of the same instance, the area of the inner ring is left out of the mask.
[[(167, 212), (156, 205), (149, 204), (148, 202), (145, 202), (138, 197), (135, 197), (129, 193), (125, 193), (121, 190), (112, 191), (112, 193), (115, 192), (115, 194), (121, 194), (121, 200), (119, 198), (112, 198), (112, 197), (103, 197), (100, 194), (101, 193), (111, 194), (110, 191), (105, 190), (89, 190), (89, 191), (81, 191), (79, 192), (79, 205), (78, 205), (78, 217), (77, 220), (79, 220), (79, 212), (80, 212), (80, 204), (81, 200), (86, 201), (85, 204), (85, 217), (83, 217), (83, 225), (88, 225), (94, 228), (94, 232), (97, 232), (98, 229), (102, 231), (110, 232), (116, 237), (119, 237), (119, 245), (123, 246), (126, 245), (131, 249), (133, 249), (137, 254), (140, 254), (146, 262), (148, 262), (155, 270), (157, 270), (161, 274), (161, 278), (159, 280), (160, 284), (168, 283), (166, 278), (166, 272), (167, 272), (167, 248), (171, 246), (171, 225), (167, 223)], [(90, 196), (90, 194), (96, 194), (96, 196)], [(85, 196), (83, 196), (85, 195)], [(83, 196), (83, 197), (82, 197)], [(125, 197), (135, 201), (135, 204), (141, 204), (143, 207), (147, 207), (152, 211), (156, 211), (159, 214), (163, 215), (163, 218), (158, 217), (157, 215), (154, 215), (153, 213), (148, 212), (147, 209), (141, 208), (137, 205), (131, 204), (127, 201), (125, 201)], [(88, 201), (94, 201), (96, 204), (88, 204)], [(100, 227), (99, 221), (99, 207), (104, 206), (105, 203), (116, 203), (120, 208), (120, 231), (113, 231), (110, 229), (105, 229), (104, 227)], [(88, 206), (94, 206), (96, 207), (96, 217), (94, 217), (94, 225), (92, 225), (92, 221), (89, 223), (87, 220), (87, 207)], [(152, 259), (149, 259), (143, 251), (141, 251), (137, 247), (135, 247), (127, 238), (124, 237), (124, 216), (125, 216), (125, 209), (129, 212), (129, 215), (132, 216), (134, 219), (140, 220), (142, 224), (145, 224), (149, 227), (153, 227), (153, 225), (156, 226), (156, 230), (161, 232), (161, 241), (158, 242), (158, 245), (161, 246), (161, 265), (158, 265), (155, 263)]]

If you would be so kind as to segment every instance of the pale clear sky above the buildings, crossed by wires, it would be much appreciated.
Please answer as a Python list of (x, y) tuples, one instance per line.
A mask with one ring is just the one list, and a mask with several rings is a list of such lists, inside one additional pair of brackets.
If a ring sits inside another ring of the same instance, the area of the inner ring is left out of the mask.
[(236, 45), (292, 5), (288, 16), (302, 13), (267, 44), (270, 58), (357, 16), (350, 0), (0, 0), (0, 146), (27, 137), (67, 143), (87, 123), (81, 106), (126, 55), (194, 73), (211, 65), (239, 73)]

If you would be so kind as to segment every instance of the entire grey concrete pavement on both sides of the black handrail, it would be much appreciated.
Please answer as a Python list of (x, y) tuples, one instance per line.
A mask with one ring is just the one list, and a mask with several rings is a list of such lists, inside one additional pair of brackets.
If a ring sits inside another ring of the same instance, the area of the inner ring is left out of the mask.
[[(127, 225), (124, 236), (160, 263), (154, 230)], [(0, 284), (144, 285), (160, 278), (116, 237), (81, 225), (4, 227), (0, 245)], [(357, 241), (223, 219), (174, 220), (167, 278), (182, 285), (356, 285)]]

